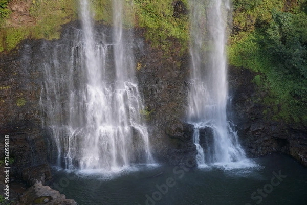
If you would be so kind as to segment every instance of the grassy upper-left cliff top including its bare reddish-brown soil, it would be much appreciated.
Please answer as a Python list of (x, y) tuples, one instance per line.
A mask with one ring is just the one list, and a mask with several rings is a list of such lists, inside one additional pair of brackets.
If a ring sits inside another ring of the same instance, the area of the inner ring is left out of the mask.
[(25, 38), (59, 38), (61, 25), (76, 19), (77, 8), (74, 0), (26, 0), (11, 1), (6, 9), (9, 15), (0, 19), (0, 51)]

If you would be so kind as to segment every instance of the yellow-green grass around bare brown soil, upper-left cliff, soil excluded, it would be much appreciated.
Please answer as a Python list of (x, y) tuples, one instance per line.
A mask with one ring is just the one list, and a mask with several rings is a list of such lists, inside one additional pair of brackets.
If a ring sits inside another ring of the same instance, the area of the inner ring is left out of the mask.
[(25, 38), (59, 38), (61, 25), (77, 17), (75, 3), (75, 0), (33, 0), (29, 14), (36, 24), (16, 27), (8, 19), (0, 28), (0, 52), (13, 49)]

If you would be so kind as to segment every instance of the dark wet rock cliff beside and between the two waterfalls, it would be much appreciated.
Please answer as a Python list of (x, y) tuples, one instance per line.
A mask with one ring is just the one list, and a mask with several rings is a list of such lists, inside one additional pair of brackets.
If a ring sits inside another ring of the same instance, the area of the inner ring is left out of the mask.
[[(99, 24), (97, 27), (106, 28)], [(32, 186), (39, 182), (44, 184), (51, 177), (51, 142), (48, 129), (42, 126), (46, 113), (40, 107), (44, 81), (40, 66), (42, 53), (56, 45), (71, 43), (70, 36), (78, 28), (78, 22), (74, 21), (63, 26), (59, 40), (28, 39), (14, 50), (0, 53), (0, 133), (10, 135), (13, 181)], [(193, 130), (185, 123), (188, 51), (179, 52), (181, 45), (176, 39), (168, 39), (173, 42), (173, 48), (165, 52), (146, 41), (142, 29), (136, 29), (135, 35), (137, 77), (144, 97), (143, 114), (153, 155), (160, 162), (179, 164), (195, 156)], [(267, 93), (253, 82), (256, 75), (244, 68), (229, 68), (229, 118), (237, 126), (240, 141), (250, 157), (286, 153), (307, 166), (306, 126), (272, 121), (265, 115), (265, 105), (257, 103), (256, 99)], [(3, 145), (4, 138), (1, 138), (2, 150)], [(0, 153), (1, 159), (3, 153)]]

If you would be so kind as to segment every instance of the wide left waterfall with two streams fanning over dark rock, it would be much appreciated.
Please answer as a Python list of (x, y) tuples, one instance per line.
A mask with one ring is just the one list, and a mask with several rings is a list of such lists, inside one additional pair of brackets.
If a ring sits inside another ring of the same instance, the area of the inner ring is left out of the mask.
[(73, 45), (59, 45), (46, 56), (41, 104), (57, 162), (67, 169), (77, 165), (117, 170), (153, 162), (140, 115), (144, 107), (131, 51), (133, 33), (123, 35), (123, 1), (113, 3), (114, 29), (100, 33), (94, 29), (89, 3), (80, 0), (82, 30)]

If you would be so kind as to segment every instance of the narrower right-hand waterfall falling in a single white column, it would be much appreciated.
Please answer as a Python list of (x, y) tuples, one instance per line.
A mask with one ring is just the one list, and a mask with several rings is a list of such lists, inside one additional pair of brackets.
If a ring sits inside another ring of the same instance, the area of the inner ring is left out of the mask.
[[(192, 72), (188, 122), (194, 125), (193, 141), (199, 166), (227, 164), (246, 158), (226, 114), (225, 44), (229, 4), (228, 0), (190, 1)], [(204, 139), (200, 139), (201, 136)]]

